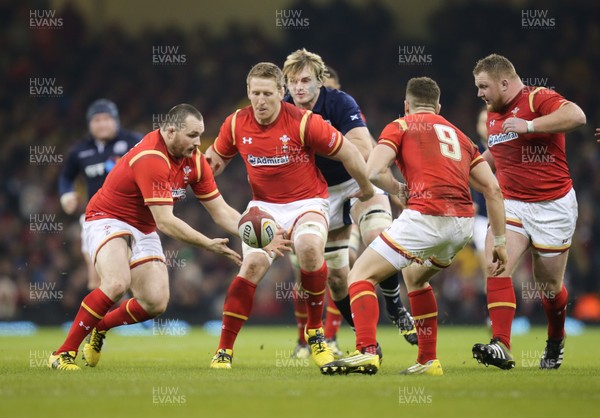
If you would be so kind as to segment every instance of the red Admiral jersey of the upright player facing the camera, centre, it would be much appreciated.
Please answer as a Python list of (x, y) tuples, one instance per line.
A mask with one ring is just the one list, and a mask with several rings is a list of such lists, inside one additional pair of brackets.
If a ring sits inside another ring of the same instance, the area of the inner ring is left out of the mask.
[(343, 135), (317, 114), (282, 102), (279, 115), (260, 125), (251, 106), (225, 119), (214, 150), (225, 159), (242, 156), (254, 200), (290, 203), (326, 198), (327, 182), (315, 165), (315, 152), (335, 155)]

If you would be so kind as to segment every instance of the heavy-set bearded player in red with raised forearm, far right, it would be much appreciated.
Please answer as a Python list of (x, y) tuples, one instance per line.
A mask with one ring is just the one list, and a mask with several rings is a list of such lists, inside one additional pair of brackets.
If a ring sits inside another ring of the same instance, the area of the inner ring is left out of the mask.
[[(475, 344), (473, 357), (486, 366), (514, 367), (510, 331), (516, 298), (511, 275), (530, 249), (535, 288), (548, 319), (540, 368), (558, 369), (564, 355), (568, 301), (563, 276), (577, 221), (565, 132), (584, 125), (585, 114), (553, 89), (525, 86), (513, 64), (501, 55), (478, 61), (473, 76), (477, 96), (488, 110), (488, 150), (483, 157), (496, 169), (508, 230), (507, 275), (487, 279), (492, 340)], [(488, 233), (488, 253), (491, 243)]]

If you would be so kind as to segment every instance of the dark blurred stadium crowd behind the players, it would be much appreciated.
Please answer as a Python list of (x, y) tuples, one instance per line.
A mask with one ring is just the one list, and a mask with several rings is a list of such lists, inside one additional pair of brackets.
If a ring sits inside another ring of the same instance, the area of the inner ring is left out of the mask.
[[(397, 3), (402, 8), (403, 2)], [(600, 313), (593, 312), (594, 303), (585, 309), (578, 306), (585, 298), (597, 301), (600, 292), (600, 217), (594, 210), (600, 202), (600, 144), (593, 136), (600, 126), (599, 4), (579, 0), (438, 3), (423, 23), (426, 37), (404, 31), (388, 3), (377, 0), (286, 4), (281, 9), (300, 10), (309, 24), (278, 28), (274, 37), (272, 30), (244, 19), (243, 10), (239, 20), (218, 32), (202, 25), (193, 30), (148, 25), (131, 33), (116, 22), (91, 30), (76, 2), (53, 8), (49, 1), (0, 0), (0, 319), (57, 324), (72, 318), (87, 293), (78, 216), (62, 212), (57, 178), (69, 148), (87, 133), (85, 111), (93, 100), (113, 100), (122, 127), (144, 134), (156, 128), (156, 115), (177, 103), (191, 103), (205, 117), (202, 146), (206, 148), (224, 118), (246, 104), (245, 77), (251, 65), (259, 61), (282, 65), (287, 54), (300, 47), (319, 53), (338, 71), (342, 90), (356, 98), (375, 138), (386, 123), (403, 113), (406, 81), (427, 75), (442, 89), (442, 114), (478, 141), (475, 123), (482, 102), (476, 97), (471, 73), (477, 59), (491, 52), (507, 56), (526, 84), (536, 80), (579, 104), (588, 123), (567, 136), (579, 199), (566, 273), (568, 309), (584, 319), (600, 319)], [(32, 28), (32, 9), (55, 10), (61, 27)], [(524, 27), (524, 10), (546, 10), (554, 25)], [(201, 12), (200, 2), (190, 5), (190, 13)], [(275, 25), (275, 10), (270, 13)], [(185, 62), (153, 63), (153, 47), (164, 45), (177, 46)], [(420, 51), (426, 62), (403, 61), (400, 55), (407, 51)], [(60, 94), (32, 95), (32, 78), (54, 78)], [(32, 161), (31, 155), (40, 152), (53, 158)], [(250, 194), (239, 159), (217, 183), (225, 199), (243, 210)], [(224, 236), (193, 200), (177, 204), (176, 215), (208, 236)], [(51, 222), (55, 230), (33, 228), (40, 219)], [(219, 319), (224, 293), (237, 269), (224, 258), (164, 236), (163, 244), (171, 280), (165, 315), (192, 323)], [(232, 238), (232, 246), (239, 250), (239, 239)], [(528, 283), (532, 283), (527, 257), (515, 277), (517, 314), (541, 320), (539, 300), (526, 300), (525, 289), (531, 289)], [(284, 297), (289, 292), (278, 292), (289, 289), (292, 280), (287, 260), (277, 260), (258, 288), (250, 323), (293, 323), (292, 302)], [(471, 247), (432, 285), (442, 323), (485, 320), (484, 277)], [(36, 297), (32, 290), (39, 289), (54, 293)], [(405, 290), (403, 298), (407, 302)]]

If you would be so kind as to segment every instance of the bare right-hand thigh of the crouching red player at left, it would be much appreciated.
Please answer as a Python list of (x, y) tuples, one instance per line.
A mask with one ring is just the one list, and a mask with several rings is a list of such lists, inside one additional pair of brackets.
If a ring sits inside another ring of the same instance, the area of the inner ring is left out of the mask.
[(142, 302), (166, 306), (169, 301), (169, 273), (166, 264), (152, 260), (132, 268), (131, 291)]

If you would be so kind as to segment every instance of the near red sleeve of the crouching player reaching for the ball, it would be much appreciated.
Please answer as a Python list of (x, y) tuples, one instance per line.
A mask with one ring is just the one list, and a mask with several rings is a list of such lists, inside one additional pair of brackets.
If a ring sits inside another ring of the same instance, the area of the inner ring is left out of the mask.
[(156, 150), (142, 151), (129, 161), (129, 166), (145, 206), (173, 205), (171, 163), (166, 155)]

